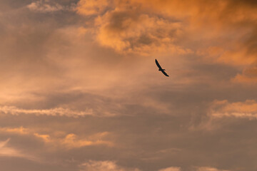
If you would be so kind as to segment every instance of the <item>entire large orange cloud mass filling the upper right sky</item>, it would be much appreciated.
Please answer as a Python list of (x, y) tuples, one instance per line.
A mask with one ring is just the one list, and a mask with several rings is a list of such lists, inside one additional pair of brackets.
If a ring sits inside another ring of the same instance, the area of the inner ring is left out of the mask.
[[(97, 2), (100, 1), (89, 1), (89, 4)], [(103, 2), (105, 11), (91, 12), (97, 14), (94, 26), (96, 40), (119, 53), (143, 56), (161, 52), (186, 54), (203, 48), (205, 52), (202, 54), (211, 56), (211, 62), (232, 66), (256, 62), (256, 53), (248, 53), (249, 47), (243, 38), (256, 28), (256, 6), (249, 1)], [(84, 3), (84, 0), (79, 1), (79, 4)], [(89, 6), (96, 9), (95, 5)], [(99, 9), (103, 8), (100, 6)], [(83, 15), (80, 12), (83, 10), (87, 11), (87, 6), (80, 5), (78, 13)], [(196, 40), (202, 42), (200, 47), (193, 45)]]

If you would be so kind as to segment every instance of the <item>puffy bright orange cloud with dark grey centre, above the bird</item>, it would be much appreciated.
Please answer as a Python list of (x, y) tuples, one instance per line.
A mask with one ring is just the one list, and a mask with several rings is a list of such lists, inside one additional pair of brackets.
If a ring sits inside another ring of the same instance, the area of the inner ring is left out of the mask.
[(191, 53), (175, 45), (180, 36), (181, 23), (136, 13), (133, 10), (115, 9), (96, 19), (96, 39), (102, 46), (114, 48), (120, 53), (149, 55), (169, 51)]

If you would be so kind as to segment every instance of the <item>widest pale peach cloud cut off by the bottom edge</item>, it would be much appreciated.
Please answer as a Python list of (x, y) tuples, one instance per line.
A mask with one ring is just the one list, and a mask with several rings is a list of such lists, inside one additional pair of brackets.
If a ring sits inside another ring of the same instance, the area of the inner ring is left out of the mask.
[(94, 161), (89, 160), (89, 162), (84, 162), (80, 165), (81, 170), (80, 171), (99, 171), (99, 170), (105, 170), (105, 171), (140, 171), (137, 168), (125, 168), (121, 167), (116, 164), (114, 161)]

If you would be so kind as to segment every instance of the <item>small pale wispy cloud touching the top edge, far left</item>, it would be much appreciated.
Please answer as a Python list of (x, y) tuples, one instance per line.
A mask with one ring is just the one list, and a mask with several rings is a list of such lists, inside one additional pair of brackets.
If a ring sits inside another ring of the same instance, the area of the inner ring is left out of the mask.
[(76, 9), (76, 6), (75, 4), (72, 4), (71, 6), (62, 6), (61, 4), (54, 3), (51, 1), (39, 0), (27, 5), (27, 8), (31, 11), (49, 13), (56, 11), (74, 11)]

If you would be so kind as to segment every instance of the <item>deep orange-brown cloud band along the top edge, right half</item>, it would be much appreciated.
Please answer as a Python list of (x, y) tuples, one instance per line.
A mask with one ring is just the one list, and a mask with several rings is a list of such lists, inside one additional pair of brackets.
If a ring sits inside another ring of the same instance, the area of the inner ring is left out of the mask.
[[(140, 4), (144, 9), (151, 9), (156, 13), (176, 16), (180, 19), (190, 19), (198, 24), (215, 25), (220, 22), (238, 23), (241, 21), (255, 21), (256, 6), (231, 0), (203, 1), (203, 0), (131, 0), (131, 4)], [(232, 10), (231, 10), (232, 9)], [(233, 16), (231, 18), (231, 16)], [(213, 21), (216, 21), (213, 23)]]

